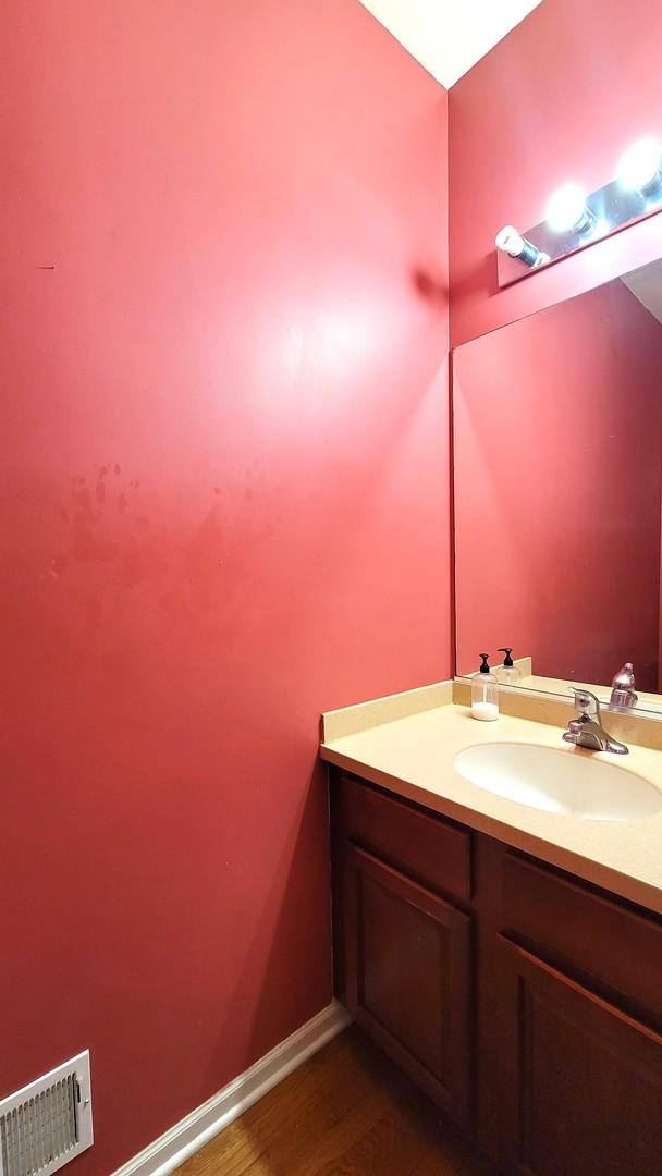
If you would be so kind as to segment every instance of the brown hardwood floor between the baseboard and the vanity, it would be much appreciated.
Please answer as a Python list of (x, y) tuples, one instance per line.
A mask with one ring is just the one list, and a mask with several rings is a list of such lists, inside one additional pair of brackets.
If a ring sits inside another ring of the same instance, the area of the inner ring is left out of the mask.
[(175, 1176), (494, 1176), (352, 1025)]

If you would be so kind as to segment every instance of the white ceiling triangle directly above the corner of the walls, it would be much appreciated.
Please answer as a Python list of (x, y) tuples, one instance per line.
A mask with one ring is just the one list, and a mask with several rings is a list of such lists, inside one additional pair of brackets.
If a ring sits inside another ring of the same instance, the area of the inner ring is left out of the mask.
[(448, 89), (541, 0), (361, 0)]

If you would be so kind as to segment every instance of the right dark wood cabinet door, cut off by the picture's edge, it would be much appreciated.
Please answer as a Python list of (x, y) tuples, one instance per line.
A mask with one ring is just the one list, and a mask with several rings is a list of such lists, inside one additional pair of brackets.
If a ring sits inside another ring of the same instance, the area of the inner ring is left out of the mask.
[(662, 1037), (506, 940), (497, 987), (508, 1170), (662, 1172)]

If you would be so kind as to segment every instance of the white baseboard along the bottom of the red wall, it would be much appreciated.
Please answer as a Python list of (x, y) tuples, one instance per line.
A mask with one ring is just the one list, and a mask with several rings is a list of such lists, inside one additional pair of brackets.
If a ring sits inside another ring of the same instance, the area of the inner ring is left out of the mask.
[(170, 1127), (169, 1131), (138, 1156), (118, 1168), (113, 1176), (168, 1176), (222, 1131), (223, 1127), (266, 1095), (267, 1090), (282, 1082), (306, 1058), (341, 1033), (350, 1020), (342, 1005), (332, 1001), (249, 1070), (245, 1070), (234, 1082), (212, 1095), (206, 1103), (192, 1110), (190, 1115)]

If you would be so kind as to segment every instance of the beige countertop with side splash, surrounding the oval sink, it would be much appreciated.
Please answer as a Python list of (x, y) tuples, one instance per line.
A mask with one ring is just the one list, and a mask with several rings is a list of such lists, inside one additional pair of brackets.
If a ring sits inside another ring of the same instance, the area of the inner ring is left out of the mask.
[(662, 810), (628, 821), (542, 813), (468, 783), (453, 766), (457, 751), (477, 743), (535, 743), (617, 760), (662, 791), (662, 751), (630, 747), (623, 763), (563, 743), (561, 729), (548, 723), (511, 715), (476, 722), (466, 707), (447, 701), (446, 686), (326, 715), (322, 759), (662, 914)]

